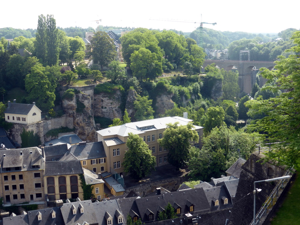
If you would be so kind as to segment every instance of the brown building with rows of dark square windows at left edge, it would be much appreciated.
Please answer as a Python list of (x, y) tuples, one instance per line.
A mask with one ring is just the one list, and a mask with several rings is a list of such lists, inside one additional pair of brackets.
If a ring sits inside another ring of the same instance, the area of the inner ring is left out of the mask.
[(4, 204), (45, 200), (44, 162), (37, 147), (0, 151), (0, 197)]

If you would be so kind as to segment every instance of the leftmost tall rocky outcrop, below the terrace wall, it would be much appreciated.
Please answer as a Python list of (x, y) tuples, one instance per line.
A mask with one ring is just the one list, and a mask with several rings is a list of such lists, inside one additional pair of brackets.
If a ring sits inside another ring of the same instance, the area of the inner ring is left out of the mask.
[[(84, 104), (82, 113), (76, 112), (77, 102)], [(62, 101), (66, 117), (73, 118), (73, 127), (75, 134), (86, 142), (97, 141), (94, 113), (91, 109), (91, 98), (87, 94), (76, 94), (72, 100), (64, 99)]]

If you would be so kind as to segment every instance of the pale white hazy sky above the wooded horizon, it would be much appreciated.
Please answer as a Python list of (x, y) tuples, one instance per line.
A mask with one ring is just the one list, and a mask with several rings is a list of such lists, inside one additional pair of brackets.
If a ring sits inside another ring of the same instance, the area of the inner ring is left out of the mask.
[(53, 14), (56, 26), (63, 28), (91, 26), (95, 29), (97, 24), (94, 20), (102, 19), (100, 25), (103, 26), (192, 32), (199, 26), (202, 14), (202, 22), (217, 23), (215, 26), (204, 24), (207, 28), (232, 32), (278, 33), (287, 28), (300, 29), (299, 6), (298, 0), (4, 1), (1, 3), (0, 28), (35, 29), (38, 15)]

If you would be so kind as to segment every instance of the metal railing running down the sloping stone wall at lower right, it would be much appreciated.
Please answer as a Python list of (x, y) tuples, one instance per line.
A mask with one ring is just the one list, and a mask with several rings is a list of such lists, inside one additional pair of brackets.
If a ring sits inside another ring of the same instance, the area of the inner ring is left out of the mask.
[[(290, 174), (292, 174), (292, 170), (293, 170), (294, 166), (290, 167), (285, 175), (283, 176), (288, 176)], [(270, 197), (265, 201), (265, 204), (262, 206), (262, 209), (258, 212), (258, 214), (256, 214), (255, 217), (255, 225), (259, 224), (259, 220), (262, 216), (266, 216), (268, 213), (268, 208), (272, 208), (273, 207), (273, 200), (274, 197), (278, 197), (278, 191), (280, 190), (280, 188), (284, 188), (283, 184), (285, 182), (286, 179), (281, 180), (280, 182), (278, 182), (278, 184), (276, 185), (276, 187), (273, 189), (273, 192), (271, 193)], [(276, 201), (275, 201), (276, 202)], [(253, 225), (253, 222), (251, 223), (251, 225)]]

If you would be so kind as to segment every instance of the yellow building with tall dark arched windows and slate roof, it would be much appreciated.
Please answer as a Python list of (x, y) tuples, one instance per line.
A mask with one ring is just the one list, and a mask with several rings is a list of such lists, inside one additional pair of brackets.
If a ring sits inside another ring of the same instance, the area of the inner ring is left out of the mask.
[(83, 174), (79, 160), (45, 162), (44, 192), (47, 199), (83, 199), (79, 174)]

